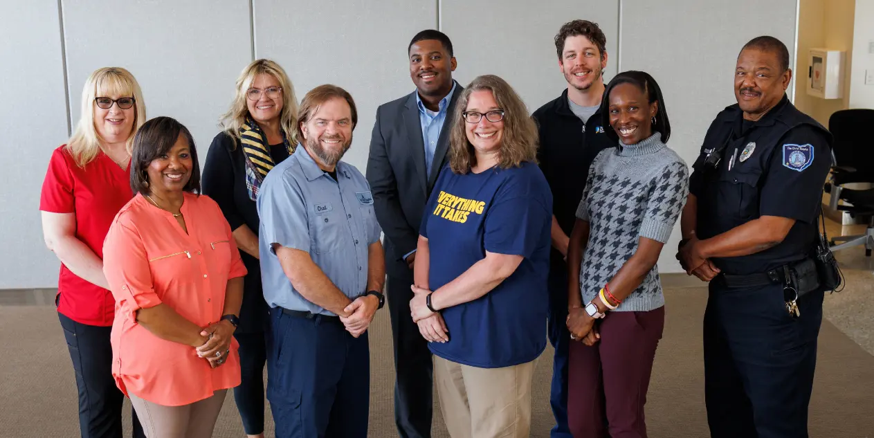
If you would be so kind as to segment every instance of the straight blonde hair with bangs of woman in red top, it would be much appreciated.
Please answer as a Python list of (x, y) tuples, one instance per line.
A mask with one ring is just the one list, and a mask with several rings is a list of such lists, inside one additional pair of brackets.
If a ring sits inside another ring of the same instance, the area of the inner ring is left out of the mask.
[(94, 126), (94, 99), (112, 95), (134, 98), (134, 126), (130, 129), (127, 149), (130, 153), (136, 129), (146, 122), (146, 106), (142, 101), (142, 90), (133, 74), (121, 67), (103, 67), (94, 70), (82, 88), (82, 109), (73, 136), (66, 143), (66, 149), (79, 167), (91, 163), (101, 150), (101, 137)]

